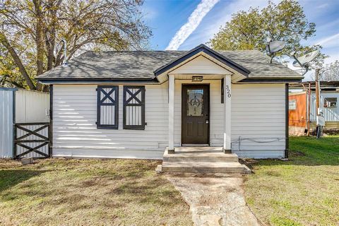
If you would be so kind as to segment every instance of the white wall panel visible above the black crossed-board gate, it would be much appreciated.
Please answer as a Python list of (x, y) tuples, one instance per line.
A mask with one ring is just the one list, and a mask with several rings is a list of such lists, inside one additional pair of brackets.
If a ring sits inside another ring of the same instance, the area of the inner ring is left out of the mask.
[(49, 122), (49, 93), (16, 91), (16, 123)]

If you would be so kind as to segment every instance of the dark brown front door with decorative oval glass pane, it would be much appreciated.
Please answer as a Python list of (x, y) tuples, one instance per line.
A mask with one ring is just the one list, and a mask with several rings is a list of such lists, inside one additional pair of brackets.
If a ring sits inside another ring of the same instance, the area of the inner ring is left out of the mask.
[(208, 144), (209, 85), (182, 85), (182, 143)]

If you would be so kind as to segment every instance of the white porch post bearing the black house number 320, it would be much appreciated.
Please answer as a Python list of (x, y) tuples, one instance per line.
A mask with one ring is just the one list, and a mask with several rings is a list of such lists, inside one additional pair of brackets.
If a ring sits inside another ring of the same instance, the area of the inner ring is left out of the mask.
[(231, 76), (224, 77), (224, 146), (225, 153), (231, 152)]

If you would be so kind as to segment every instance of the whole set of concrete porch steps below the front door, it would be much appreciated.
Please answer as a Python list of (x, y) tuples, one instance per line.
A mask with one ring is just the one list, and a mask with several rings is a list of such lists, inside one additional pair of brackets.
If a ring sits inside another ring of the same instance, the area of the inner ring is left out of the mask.
[(165, 153), (157, 172), (249, 173), (237, 154), (225, 154), (221, 147), (179, 147)]

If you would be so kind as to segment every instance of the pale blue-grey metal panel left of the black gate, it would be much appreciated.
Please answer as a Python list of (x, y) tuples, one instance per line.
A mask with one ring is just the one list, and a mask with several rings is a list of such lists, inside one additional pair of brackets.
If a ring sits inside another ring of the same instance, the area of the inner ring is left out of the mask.
[(13, 92), (0, 89), (0, 157), (13, 157)]

